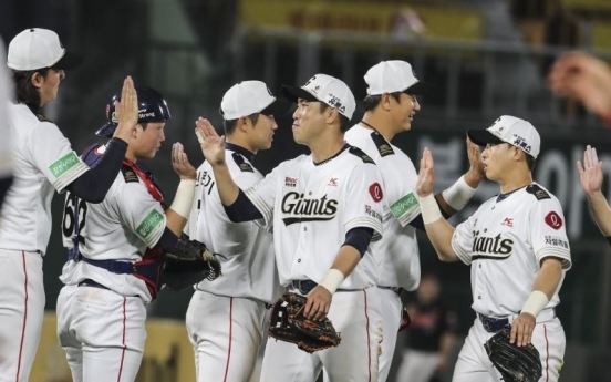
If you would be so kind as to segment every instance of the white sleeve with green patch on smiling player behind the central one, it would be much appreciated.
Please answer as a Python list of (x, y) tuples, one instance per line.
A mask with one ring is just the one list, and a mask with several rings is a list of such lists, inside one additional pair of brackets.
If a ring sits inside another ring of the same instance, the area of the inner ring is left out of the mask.
[(380, 172), (384, 179), (384, 192), (391, 214), (401, 226), (407, 226), (420, 213), (420, 199), (415, 192), (416, 168), (412, 161), (398, 154), (381, 158)]

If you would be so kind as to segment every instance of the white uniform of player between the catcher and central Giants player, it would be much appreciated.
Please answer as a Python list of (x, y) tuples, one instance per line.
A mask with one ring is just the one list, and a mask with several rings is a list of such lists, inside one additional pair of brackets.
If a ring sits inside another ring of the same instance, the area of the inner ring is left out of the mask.
[[(252, 165), (253, 156), (226, 144), (229, 172), (242, 189), (263, 177)], [(281, 295), (272, 235), (253, 221), (229, 220), (208, 162), (197, 171), (186, 233), (220, 254), (222, 266), (222, 277), (196, 286), (187, 310), (197, 381), (248, 381), (261, 344), (266, 303)]]

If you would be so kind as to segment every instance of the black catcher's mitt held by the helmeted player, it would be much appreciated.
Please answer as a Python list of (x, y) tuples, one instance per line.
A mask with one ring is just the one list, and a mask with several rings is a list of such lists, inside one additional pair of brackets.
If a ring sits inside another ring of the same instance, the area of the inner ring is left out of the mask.
[(162, 288), (183, 290), (204, 279), (215, 280), (221, 275), (220, 262), (197, 240), (178, 239), (174, 248), (164, 256)]

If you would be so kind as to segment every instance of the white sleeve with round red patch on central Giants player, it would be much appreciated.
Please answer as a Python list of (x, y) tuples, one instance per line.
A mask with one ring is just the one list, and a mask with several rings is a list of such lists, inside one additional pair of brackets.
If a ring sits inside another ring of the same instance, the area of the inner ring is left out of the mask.
[(372, 241), (382, 238), (384, 190), (377, 166), (363, 163), (352, 171), (344, 197), (344, 234), (356, 227), (373, 229)]

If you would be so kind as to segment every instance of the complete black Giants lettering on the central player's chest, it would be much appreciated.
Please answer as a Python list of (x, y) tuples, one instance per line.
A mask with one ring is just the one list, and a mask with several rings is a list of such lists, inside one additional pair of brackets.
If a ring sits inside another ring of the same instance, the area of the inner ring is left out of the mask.
[(303, 194), (288, 193), (282, 198), (282, 214), (292, 215), (282, 219), (284, 225), (301, 221), (331, 220), (338, 213), (338, 200), (327, 199), (327, 195), (320, 199), (308, 199)]

